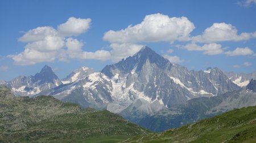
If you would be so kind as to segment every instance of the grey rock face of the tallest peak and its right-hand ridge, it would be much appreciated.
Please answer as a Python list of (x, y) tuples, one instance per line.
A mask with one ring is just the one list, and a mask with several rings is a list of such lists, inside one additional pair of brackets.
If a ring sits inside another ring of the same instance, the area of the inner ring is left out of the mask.
[(126, 88), (143, 92), (151, 101), (162, 100), (171, 107), (196, 97), (209, 97), (240, 89), (218, 68), (208, 71), (188, 71), (172, 64), (149, 47), (143, 47), (133, 57), (106, 66), (102, 71), (109, 78), (126, 77)]

